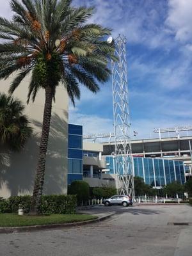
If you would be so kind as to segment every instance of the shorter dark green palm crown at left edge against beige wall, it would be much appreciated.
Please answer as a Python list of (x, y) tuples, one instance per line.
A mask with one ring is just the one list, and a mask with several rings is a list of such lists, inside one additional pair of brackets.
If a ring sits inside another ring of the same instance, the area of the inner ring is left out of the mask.
[(0, 93), (0, 143), (19, 151), (32, 134), (27, 116), (23, 115), (24, 104)]

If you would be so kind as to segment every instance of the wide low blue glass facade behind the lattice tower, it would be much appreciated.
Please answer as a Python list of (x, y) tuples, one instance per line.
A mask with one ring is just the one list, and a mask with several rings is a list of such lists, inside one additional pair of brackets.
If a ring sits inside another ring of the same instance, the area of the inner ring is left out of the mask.
[[(142, 177), (146, 184), (161, 187), (172, 182), (184, 184), (184, 163), (182, 161), (133, 157), (134, 176)], [(106, 156), (108, 173), (114, 173), (115, 159)]]

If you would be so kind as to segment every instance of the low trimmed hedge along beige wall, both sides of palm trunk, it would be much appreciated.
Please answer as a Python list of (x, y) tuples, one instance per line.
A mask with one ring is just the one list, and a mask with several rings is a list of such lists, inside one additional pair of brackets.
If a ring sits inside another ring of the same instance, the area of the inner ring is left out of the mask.
[[(29, 212), (31, 196), (11, 196), (0, 198), (0, 213), (17, 212), (19, 207)], [(40, 212), (42, 214), (72, 214), (76, 212), (77, 198), (75, 195), (43, 195)]]

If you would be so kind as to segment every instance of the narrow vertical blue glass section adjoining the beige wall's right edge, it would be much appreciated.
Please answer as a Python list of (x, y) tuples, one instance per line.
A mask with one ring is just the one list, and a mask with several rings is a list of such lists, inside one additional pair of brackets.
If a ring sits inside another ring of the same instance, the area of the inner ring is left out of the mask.
[(83, 180), (83, 127), (68, 124), (68, 185)]

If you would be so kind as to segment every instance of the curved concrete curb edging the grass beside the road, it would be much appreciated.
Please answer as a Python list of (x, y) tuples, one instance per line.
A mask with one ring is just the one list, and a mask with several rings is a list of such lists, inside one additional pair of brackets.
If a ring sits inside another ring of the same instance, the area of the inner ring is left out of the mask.
[(108, 218), (111, 218), (113, 215), (115, 215), (115, 212), (112, 212), (110, 214), (107, 214), (106, 216), (97, 218), (95, 220), (86, 220), (86, 221), (79, 221), (79, 222), (72, 222), (72, 223), (24, 226), (24, 227), (2, 227), (0, 228), (0, 234), (13, 234), (13, 233), (20, 233), (20, 232), (33, 232), (36, 230), (49, 230), (49, 229), (83, 226), (83, 225), (88, 225), (90, 223), (97, 223), (100, 221), (104, 221)]

